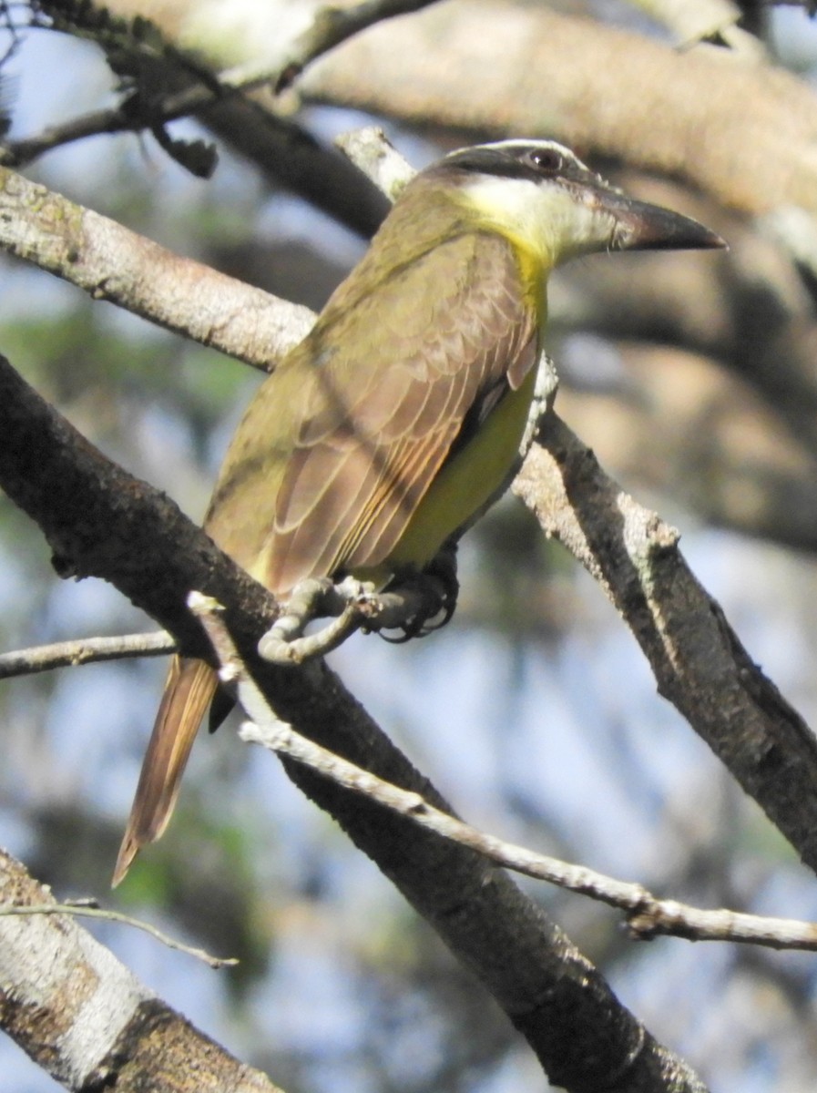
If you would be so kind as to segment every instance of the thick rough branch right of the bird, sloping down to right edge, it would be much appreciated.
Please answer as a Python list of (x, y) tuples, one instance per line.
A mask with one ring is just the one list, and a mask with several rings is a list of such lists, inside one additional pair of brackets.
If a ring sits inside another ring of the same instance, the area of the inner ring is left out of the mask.
[(555, 414), (512, 489), (602, 586), (660, 693), (817, 870), (817, 738), (689, 571), (677, 531), (607, 478)]

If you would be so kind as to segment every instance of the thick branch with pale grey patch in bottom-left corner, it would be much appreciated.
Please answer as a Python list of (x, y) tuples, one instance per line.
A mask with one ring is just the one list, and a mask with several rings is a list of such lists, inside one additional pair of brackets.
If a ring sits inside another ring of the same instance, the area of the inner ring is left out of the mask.
[[(54, 903), (0, 851), (0, 904)], [(3, 1031), (68, 1089), (280, 1093), (156, 998), (69, 915), (0, 916), (0, 1011)], [(180, 1076), (192, 1081), (180, 1083)]]

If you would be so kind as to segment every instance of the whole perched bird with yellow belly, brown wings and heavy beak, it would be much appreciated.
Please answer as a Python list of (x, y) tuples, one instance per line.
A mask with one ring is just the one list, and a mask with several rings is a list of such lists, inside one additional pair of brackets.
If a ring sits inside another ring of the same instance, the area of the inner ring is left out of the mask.
[[(508, 484), (555, 267), (724, 246), (552, 140), (459, 149), (405, 186), (315, 326), (253, 396), (204, 530), (277, 598), (307, 577), (422, 572)], [(216, 693), (177, 655), (114, 874), (170, 819)]]

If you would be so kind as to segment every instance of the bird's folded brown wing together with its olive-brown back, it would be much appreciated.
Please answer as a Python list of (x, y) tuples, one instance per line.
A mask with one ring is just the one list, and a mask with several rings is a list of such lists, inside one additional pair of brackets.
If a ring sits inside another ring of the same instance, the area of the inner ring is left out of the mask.
[(450, 239), (343, 305), (259, 390), (208, 518), (277, 592), (388, 559), (463, 426), (533, 361), (532, 309), (498, 236)]

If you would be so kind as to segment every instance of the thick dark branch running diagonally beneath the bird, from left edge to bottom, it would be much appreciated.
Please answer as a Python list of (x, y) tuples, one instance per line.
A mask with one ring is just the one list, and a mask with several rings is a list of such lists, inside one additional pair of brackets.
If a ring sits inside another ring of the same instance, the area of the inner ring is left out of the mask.
[[(259, 661), (256, 644), (274, 616), (271, 597), (166, 497), (106, 460), (5, 362), (0, 484), (40, 525), (64, 574), (110, 580), (187, 651), (212, 658), (185, 607), (187, 592), (198, 588), (228, 604), (230, 633), (280, 717), (450, 811), (325, 665), (281, 669)], [(655, 1043), (505, 873), (473, 850), (419, 831), (303, 767), (285, 766), (494, 995), (553, 1083), (577, 1093), (701, 1093), (688, 1067)]]

